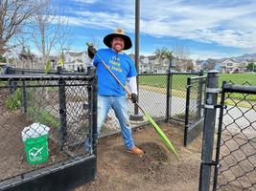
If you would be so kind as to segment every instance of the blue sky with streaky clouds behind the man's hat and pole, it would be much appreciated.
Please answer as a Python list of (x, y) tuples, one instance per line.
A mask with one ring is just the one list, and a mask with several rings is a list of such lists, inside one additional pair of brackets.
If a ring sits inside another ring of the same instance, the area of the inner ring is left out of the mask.
[[(135, 0), (55, 0), (68, 18), (71, 51), (85, 42), (104, 48), (104, 36), (122, 27), (135, 37)], [(256, 53), (255, 0), (140, 0), (140, 54), (176, 46), (193, 59)], [(134, 53), (133, 49), (127, 53)]]

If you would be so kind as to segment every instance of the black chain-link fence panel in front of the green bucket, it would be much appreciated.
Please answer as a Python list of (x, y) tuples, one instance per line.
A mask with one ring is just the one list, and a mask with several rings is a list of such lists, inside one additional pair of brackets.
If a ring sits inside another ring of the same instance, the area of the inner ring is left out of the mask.
[(88, 75), (0, 76), (0, 189), (5, 180), (96, 153), (96, 87)]

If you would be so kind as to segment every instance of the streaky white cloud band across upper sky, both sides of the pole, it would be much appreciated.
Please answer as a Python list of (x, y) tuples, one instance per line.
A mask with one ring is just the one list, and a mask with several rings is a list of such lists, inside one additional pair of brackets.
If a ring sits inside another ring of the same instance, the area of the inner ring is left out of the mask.
[[(74, 1), (96, 3), (96, 0)], [(121, 26), (134, 32), (135, 1), (99, 1), (99, 4), (105, 5), (104, 11), (76, 11), (77, 16), (70, 17), (69, 23), (97, 29)], [(256, 51), (255, 1), (144, 0), (140, 7), (142, 33)]]

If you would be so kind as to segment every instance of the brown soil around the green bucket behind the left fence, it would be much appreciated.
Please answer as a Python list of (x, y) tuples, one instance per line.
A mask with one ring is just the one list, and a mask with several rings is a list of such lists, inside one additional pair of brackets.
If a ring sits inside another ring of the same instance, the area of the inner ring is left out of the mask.
[[(12, 111), (5, 107), (7, 91), (0, 90), (0, 181), (33, 171), (66, 158), (59, 145), (48, 139), (49, 159), (37, 165), (29, 165), (26, 159), (22, 130), (33, 121), (24, 117), (20, 110)], [(54, 131), (51, 129), (50, 135)]]

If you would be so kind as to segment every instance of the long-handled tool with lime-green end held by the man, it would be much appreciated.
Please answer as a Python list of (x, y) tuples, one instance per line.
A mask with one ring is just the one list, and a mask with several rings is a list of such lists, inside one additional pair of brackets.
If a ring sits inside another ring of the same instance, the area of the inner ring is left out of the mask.
[[(88, 47), (92, 46), (92, 44), (86, 43), (86, 45)], [(128, 96), (130, 97), (131, 94), (128, 91), (128, 89), (122, 84), (122, 82), (117, 78), (117, 76), (115, 74), (113, 74), (113, 72), (109, 69), (109, 67), (105, 64), (105, 61), (100, 57), (100, 55), (98, 53), (95, 53), (95, 56), (98, 56), (98, 58), (101, 60), (101, 62), (104, 64), (105, 69), (115, 78), (115, 80), (117, 81), (117, 83), (126, 91), (126, 93), (128, 94)], [(152, 119), (152, 117), (150, 117), (150, 115), (148, 113), (146, 113), (142, 107), (136, 102), (135, 103), (138, 108), (140, 109), (140, 111), (144, 114), (145, 117), (147, 117), (147, 119), (151, 122), (152, 126), (154, 127), (155, 131), (157, 132), (158, 136), (161, 138), (162, 142), (166, 145), (166, 147), (172, 151), (175, 154), (176, 159), (179, 160), (177, 152), (175, 150), (175, 147), (173, 146), (172, 142), (170, 141), (169, 138), (167, 138), (167, 136), (164, 134), (164, 132), (161, 130), (161, 128), (155, 123), (155, 121)]]

